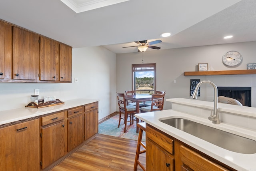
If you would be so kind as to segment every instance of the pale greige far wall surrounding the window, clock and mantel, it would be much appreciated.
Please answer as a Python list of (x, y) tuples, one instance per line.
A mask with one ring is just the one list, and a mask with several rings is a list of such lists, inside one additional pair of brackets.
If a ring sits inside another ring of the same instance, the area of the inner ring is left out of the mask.
[[(242, 64), (236, 67), (222, 64), (223, 54), (230, 50), (240, 52)], [(116, 91), (132, 89), (132, 64), (141, 64), (143, 55), (145, 64), (156, 63), (156, 89), (166, 91), (166, 98), (190, 98), (190, 79), (200, 79), (213, 81), (217, 86), (250, 86), (252, 106), (256, 107), (256, 75), (184, 76), (185, 71), (198, 71), (198, 63), (208, 63), (209, 70), (246, 70), (248, 63), (256, 63), (255, 54), (256, 42), (117, 54)], [(212, 101), (212, 92), (211, 87), (202, 85), (198, 99)], [(171, 104), (166, 102), (164, 109), (170, 108)]]

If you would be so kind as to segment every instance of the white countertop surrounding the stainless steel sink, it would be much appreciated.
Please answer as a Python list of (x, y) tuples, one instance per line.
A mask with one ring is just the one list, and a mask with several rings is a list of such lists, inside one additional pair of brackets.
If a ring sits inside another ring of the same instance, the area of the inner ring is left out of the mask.
[(238, 133), (239, 135), (254, 140), (256, 140), (256, 131), (243, 129), (240, 127), (236, 127), (234, 125), (228, 125), (224, 123), (216, 125), (208, 119), (203, 119), (201, 117), (196, 117), (190, 114), (181, 113), (179, 111), (174, 111), (171, 109), (149, 113), (139, 113), (135, 116), (139, 119), (142, 119), (146, 123), (156, 127), (157, 129), (167, 133), (168, 135), (171, 135), (172, 137), (186, 143), (187, 145), (190, 145), (191, 147), (194, 147), (195, 149), (198, 149), (199, 151), (202, 151), (206, 155), (209, 155), (210, 157), (213, 157), (214, 159), (236, 170), (256, 171), (256, 154), (241, 154), (223, 149), (212, 143), (204, 141), (198, 137), (190, 135), (184, 131), (176, 129), (170, 125), (162, 123), (161, 121), (159, 121), (159, 119), (161, 118), (160, 120), (162, 120), (162, 118), (168, 119), (172, 117), (181, 117), (231, 133)]

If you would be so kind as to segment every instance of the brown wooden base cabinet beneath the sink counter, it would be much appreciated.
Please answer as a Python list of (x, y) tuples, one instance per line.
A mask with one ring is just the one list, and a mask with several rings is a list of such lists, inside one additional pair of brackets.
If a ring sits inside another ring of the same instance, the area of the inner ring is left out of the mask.
[(235, 171), (149, 124), (146, 147), (147, 171)]

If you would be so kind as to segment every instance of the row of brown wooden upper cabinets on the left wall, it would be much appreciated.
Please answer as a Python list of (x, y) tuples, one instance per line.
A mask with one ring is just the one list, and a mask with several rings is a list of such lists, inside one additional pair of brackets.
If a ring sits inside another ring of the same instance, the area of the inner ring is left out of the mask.
[(72, 82), (72, 47), (0, 20), (0, 82)]

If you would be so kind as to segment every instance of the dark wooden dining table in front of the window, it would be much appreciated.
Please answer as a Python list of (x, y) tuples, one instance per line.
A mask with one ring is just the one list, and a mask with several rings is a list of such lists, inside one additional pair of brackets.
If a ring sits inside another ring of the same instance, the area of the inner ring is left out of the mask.
[[(126, 95), (126, 100), (134, 101), (136, 103), (136, 113), (140, 113), (140, 102), (151, 101), (152, 95), (150, 94), (133, 94), (133, 95)], [(136, 118), (136, 122), (139, 122), (139, 119)], [(136, 132), (139, 132), (139, 128), (136, 127)]]

